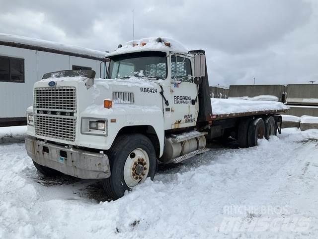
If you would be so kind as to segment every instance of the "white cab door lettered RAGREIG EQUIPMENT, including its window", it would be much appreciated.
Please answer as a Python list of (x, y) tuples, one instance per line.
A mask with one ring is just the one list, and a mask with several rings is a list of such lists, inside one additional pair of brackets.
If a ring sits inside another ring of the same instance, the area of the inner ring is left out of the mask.
[[(193, 83), (191, 58), (170, 55), (170, 128), (194, 126), (199, 112), (198, 88)], [(165, 125), (168, 126), (168, 125)]]

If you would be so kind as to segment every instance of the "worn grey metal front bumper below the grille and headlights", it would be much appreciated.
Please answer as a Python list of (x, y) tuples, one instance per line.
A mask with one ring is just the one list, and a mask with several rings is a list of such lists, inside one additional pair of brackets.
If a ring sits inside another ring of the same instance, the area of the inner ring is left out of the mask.
[(82, 179), (110, 177), (106, 154), (46, 143), (34, 137), (25, 138), (27, 154), (38, 164)]

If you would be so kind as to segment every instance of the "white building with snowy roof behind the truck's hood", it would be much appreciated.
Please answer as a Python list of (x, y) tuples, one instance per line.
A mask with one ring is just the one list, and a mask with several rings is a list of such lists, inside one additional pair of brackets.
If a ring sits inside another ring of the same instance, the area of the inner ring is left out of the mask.
[(26, 124), (33, 84), (58, 70), (105, 69), (105, 52), (0, 33), (0, 126)]

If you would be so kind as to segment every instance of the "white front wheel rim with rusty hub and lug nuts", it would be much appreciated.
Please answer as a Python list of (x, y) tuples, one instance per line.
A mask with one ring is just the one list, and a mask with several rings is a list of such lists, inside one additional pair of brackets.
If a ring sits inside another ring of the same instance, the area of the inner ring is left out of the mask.
[(133, 188), (146, 180), (149, 173), (149, 156), (142, 148), (136, 148), (128, 154), (124, 165), (124, 180)]

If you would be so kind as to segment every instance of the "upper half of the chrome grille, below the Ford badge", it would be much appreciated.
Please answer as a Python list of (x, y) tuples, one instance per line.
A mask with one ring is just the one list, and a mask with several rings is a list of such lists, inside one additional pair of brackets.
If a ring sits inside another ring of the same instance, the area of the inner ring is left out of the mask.
[(75, 87), (45, 87), (34, 89), (34, 104), (36, 109), (60, 111), (76, 111)]

